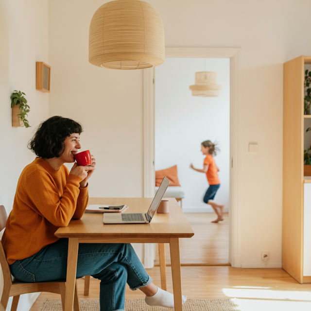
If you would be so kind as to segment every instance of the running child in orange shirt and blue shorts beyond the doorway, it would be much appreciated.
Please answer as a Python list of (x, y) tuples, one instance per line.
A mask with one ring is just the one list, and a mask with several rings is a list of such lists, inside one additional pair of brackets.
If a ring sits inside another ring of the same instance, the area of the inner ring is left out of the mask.
[(194, 171), (206, 173), (209, 187), (205, 193), (203, 201), (213, 207), (215, 213), (217, 214), (217, 219), (212, 221), (212, 223), (218, 223), (224, 220), (223, 213), (225, 208), (224, 205), (220, 205), (214, 201), (216, 192), (220, 188), (220, 180), (218, 177), (219, 169), (213, 158), (213, 155), (216, 155), (216, 150), (218, 150), (216, 144), (212, 143), (210, 140), (203, 141), (201, 144), (201, 151), (203, 155), (206, 155), (203, 163), (203, 169), (195, 169), (192, 163), (190, 164), (190, 168)]

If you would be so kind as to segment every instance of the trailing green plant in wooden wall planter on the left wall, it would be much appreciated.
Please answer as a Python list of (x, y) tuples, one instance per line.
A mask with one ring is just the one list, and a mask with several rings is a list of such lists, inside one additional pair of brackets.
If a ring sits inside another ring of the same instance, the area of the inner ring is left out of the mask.
[(11, 94), (12, 126), (31, 127), (28, 120), (26, 120), (30, 109), (24, 95), (26, 94), (17, 90)]

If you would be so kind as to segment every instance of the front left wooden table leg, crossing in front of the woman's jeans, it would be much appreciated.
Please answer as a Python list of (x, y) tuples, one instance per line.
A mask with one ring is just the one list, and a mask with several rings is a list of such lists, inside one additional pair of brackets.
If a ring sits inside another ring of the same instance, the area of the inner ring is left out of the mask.
[(72, 308), (73, 308), (73, 298), (74, 298), (74, 290), (75, 290), (76, 274), (77, 274), (78, 249), (79, 249), (79, 239), (69, 238), (65, 311), (72, 311)]

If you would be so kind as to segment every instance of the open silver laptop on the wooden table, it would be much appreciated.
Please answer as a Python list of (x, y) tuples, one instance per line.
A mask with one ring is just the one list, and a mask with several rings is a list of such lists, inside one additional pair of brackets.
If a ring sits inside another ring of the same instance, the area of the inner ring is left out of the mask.
[(147, 213), (104, 213), (104, 224), (149, 224), (169, 184), (164, 177)]

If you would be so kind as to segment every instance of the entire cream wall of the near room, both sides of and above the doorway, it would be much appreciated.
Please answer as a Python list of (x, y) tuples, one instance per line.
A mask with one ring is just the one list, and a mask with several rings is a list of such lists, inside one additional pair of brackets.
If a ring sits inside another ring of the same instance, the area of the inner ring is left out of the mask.
[[(283, 63), (311, 54), (308, 0), (147, 0), (167, 47), (241, 47), (238, 181), (243, 267), (281, 266)], [(141, 71), (88, 64), (90, 19), (106, 0), (51, 0), (50, 114), (81, 121), (98, 160), (91, 196), (142, 195)], [(248, 142), (259, 153), (248, 154)], [(112, 179), (108, 182), (108, 179)]]

